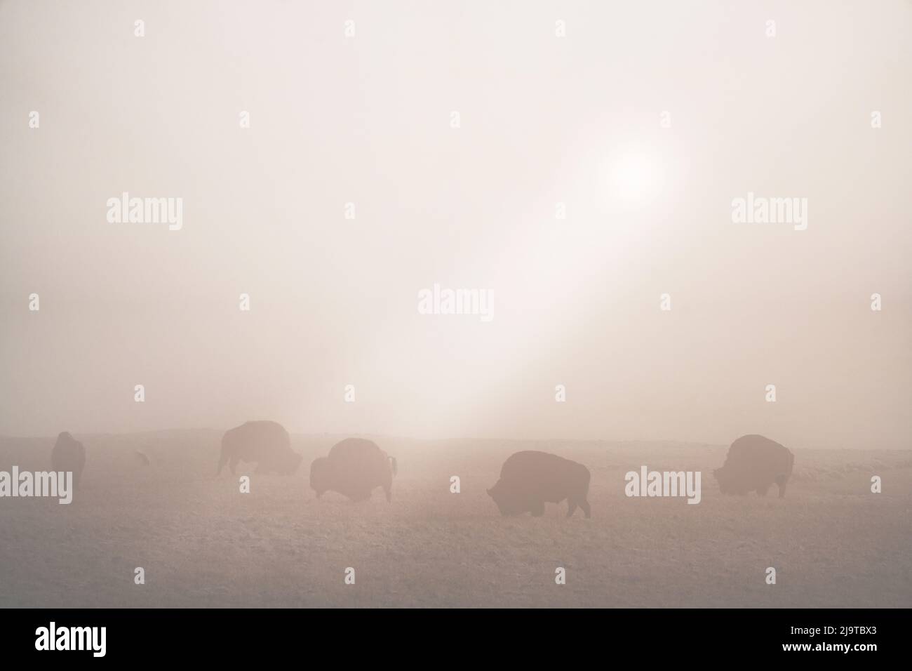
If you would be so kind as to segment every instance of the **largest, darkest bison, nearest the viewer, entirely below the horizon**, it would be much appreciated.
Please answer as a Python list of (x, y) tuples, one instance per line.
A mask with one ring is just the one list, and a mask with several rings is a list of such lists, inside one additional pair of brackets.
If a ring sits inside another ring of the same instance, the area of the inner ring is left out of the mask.
[(544, 515), (544, 502), (560, 503), (567, 499), (567, 517), (576, 507), (590, 517), (589, 469), (562, 456), (527, 450), (511, 455), (503, 462), (501, 479), (488, 494), (501, 515), (519, 515), (529, 511), (534, 517)]

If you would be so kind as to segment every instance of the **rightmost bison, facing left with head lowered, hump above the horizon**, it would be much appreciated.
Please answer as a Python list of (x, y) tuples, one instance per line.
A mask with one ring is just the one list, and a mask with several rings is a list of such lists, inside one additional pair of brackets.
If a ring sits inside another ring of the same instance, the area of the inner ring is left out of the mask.
[(765, 497), (772, 483), (785, 496), (785, 483), (792, 475), (795, 457), (791, 450), (762, 435), (742, 435), (729, 447), (721, 468), (712, 474), (722, 494), (747, 494), (756, 491)]

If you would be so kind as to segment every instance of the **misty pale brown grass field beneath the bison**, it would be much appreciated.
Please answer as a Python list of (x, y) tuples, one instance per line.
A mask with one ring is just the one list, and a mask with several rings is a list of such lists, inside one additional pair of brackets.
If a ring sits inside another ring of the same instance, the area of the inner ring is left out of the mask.
[[(241, 494), (237, 477), (214, 476), (221, 433), (76, 435), (88, 463), (71, 505), (0, 498), (0, 605), (912, 605), (912, 452), (790, 446), (786, 498), (732, 498), (711, 476), (726, 446), (377, 437), (399, 460), (393, 501), (377, 490), (355, 504), (307, 486), (310, 461), (342, 436), (293, 436), (305, 456), (293, 477), (242, 465)], [(0, 470), (49, 468), (53, 443), (0, 438)], [(485, 488), (521, 449), (586, 464), (592, 519), (565, 519), (565, 503), (502, 518)], [(624, 474), (644, 464), (702, 471), (700, 504), (627, 498)]]

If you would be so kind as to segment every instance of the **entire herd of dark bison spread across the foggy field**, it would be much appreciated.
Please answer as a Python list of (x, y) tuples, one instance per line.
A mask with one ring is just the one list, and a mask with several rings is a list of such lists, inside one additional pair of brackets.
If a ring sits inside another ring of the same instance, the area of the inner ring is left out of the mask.
[[(148, 456), (141, 456), (149, 466)], [(234, 473), (239, 462), (256, 464), (255, 473), (292, 475), (301, 465), (303, 456), (291, 448), (291, 439), (285, 428), (275, 422), (247, 422), (225, 432), (222, 454), (216, 475), (227, 465)], [(86, 448), (67, 432), (57, 436), (51, 452), (51, 463), (56, 471), (72, 471), (73, 482), (78, 488), (86, 464)], [(779, 488), (779, 497), (785, 496), (785, 484), (792, 475), (794, 456), (762, 435), (743, 435), (729, 448), (725, 463), (713, 471), (722, 494), (740, 494), (755, 491), (765, 496), (773, 484)], [(352, 499), (370, 498), (376, 488), (383, 488), (387, 501), (392, 500), (393, 476), (396, 475), (396, 458), (389, 456), (373, 441), (364, 438), (346, 438), (332, 446), (329, 454), (316, 458), (310, 465), (310, 487), (320, 498), (327, 491), (334, 491)], [(525, 450), (511, 455), (501, 468), (501, 477), (488, 489), (502, 515), (519, 515), (530, 512), (544, 515), (545, 503), (567, 502), (567, 517), (576, 508), (591, 515), (589, 469), (575, 461), (546, 452)]]

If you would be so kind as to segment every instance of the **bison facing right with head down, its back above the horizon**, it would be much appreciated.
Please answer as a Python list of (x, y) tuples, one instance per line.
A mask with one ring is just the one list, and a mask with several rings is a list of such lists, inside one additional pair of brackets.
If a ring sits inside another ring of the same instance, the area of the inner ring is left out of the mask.
[(229, 429), (222, 436), (222, 456), (218, 473), (225, 464), (234, 472), (239, 461), (255, 461), (255, 473), (293, 474), (301, 464), (301, 455), (291, 449), (285, 427), (275, 422), (247, 422)]

